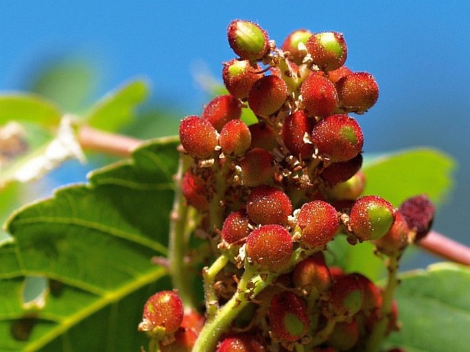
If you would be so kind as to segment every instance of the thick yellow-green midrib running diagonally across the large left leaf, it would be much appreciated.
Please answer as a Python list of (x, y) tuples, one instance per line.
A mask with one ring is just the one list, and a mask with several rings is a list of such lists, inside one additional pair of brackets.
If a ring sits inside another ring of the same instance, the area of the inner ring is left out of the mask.
[[(95, 303), (89, 305), (85, 309), (81, 309), (77, 313), (65, 319), (60, 320), (58, 327), (51, 329), (49, 333), (45, 333), (38, 340), (35, 340), (31, 344), (28, 344), (27, 347), (23, 349), (23, 351), (24, 352), (37, 351), (38, 349), (44, 347), (47, 343), (67, 333), (67, 331), (69, 331), (71, 327), (77, 325), (85, 318), (92, 316), (93, 314), (95, 314), (96, 312), (99, 312), (99, 310), (103, 309), (104, 307), (108, 305), (112, 305), (112, 304), (119, 302), (121, 298), (124, 298), (128, 296), (129, 294), (131, 294), (132, 292), (139, 290), (139, 288), (143, 288), (145, 285), (149, 285), (150, 283), (160, 279), (161, 277), (163, 277), (164, 274), (165, 274), (165, 269), (156, 268), (155, 270), (153, 270), (152, 272), (149, 272), (148, 274), (145, 274), (141, 277), (136, 277), (127, 285), (124, 285), (117, 290), (113, 290), (112, 292), (108, 292), (107, 294), (104, 294), (104, 296), (101, 296), (100, 298), (98, 298), (97, 301), (95, 301)], [(112, 318), (112, 314), (110, 318)]]

